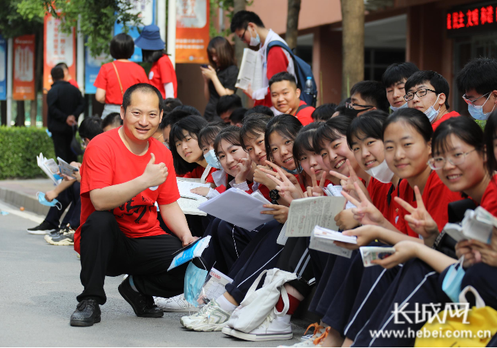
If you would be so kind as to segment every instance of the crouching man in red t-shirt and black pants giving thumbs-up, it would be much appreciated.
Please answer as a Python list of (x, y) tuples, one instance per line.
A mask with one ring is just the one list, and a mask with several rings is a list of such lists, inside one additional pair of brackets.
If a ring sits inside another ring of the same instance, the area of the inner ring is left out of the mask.
[[(100, 322), (106, 276), (130, 276), (119, 293), (144, 318), (164, 315), (153, 296), (183, 292), (186, 264), (167, 271), (173, 253), (195, 241), (177, 204), (179, 191), (170, 151), (152, 135), (162, 119), (162, 95), (149, 84), (124, 93), (121, 128), (90, 142), (81, 166), (81, 226), (75, 250), (81, 254), (79, 305), (70, 325)], [(159, 226), (157, 209), (173, 233)]]

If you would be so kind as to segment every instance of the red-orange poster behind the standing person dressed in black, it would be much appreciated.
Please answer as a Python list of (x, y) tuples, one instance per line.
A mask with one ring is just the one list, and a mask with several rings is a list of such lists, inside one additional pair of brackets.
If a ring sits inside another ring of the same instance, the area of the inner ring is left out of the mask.
[(50, 70), (59, 63), (66, 63), (72, 77), (76, 76), (76, 34), (59, 30), (60, 19), (46, 14), (43, 30), (43, 93), (52, 88)]

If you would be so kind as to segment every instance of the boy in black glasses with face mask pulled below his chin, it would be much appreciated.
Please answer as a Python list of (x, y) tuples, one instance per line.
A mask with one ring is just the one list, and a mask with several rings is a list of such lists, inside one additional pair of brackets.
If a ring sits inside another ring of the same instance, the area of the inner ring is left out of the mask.
[(425, 113), (433, 131), (446, 119), (460, 116), (456, 111), (449, 112), (449, 82), (438, 72), (415, 72), (407, 79), (404, 88), (407, 106)]

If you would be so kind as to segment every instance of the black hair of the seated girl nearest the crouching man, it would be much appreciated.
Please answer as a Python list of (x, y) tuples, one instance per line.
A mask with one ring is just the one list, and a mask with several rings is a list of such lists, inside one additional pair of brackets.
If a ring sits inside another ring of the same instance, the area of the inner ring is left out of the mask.
[(173, 154), (173, 165), (178, 175), (185, 175), (193, 171), (199, 164), (188, 163), (179, 155), (176, 149), (176, 142), (184, 139), (183, 131), (187, 131), (191, 137), (197, 139), (200, 131), (208, 125), (202, 116), (187, 116), (176, 122), (169, 133), (169, 148)]

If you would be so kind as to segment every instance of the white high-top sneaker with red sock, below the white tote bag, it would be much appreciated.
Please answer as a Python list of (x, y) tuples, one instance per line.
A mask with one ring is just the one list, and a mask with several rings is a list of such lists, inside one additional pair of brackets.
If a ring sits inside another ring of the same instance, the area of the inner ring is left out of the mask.
[(249, 332), (249, 334), (232, 329), (229, 335), (253, 342), (291, 340), (293, 338), (293, 333), (291, 330), (290, 319), (291, 316), (289, 315), (275, 316), (275, 314), (271, 312), (264, 322), (262, 322), (257, 329), (253, 329)]

